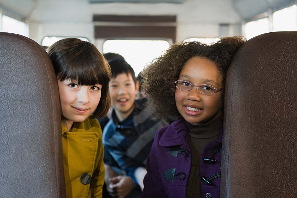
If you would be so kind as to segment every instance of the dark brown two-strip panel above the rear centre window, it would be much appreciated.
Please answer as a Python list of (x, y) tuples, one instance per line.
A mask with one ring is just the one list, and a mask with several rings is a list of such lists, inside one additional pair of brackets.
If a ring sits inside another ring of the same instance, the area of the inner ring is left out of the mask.
[[(176, 41), (176, 16), (120, 16), (120, 15), (94, 15), (94, 22), (116, 22), (123, 25), (95, 25), (95, 38), (119, 39), (119, 38), (170, 38)], [(129, 23), (126, 25), (124, 23)], [(137, 23), (134, 24), (133, 23)], [(143, 25), (139, 25), (143, 23)], [(168, 23), (166, 26), (160, 24)]]

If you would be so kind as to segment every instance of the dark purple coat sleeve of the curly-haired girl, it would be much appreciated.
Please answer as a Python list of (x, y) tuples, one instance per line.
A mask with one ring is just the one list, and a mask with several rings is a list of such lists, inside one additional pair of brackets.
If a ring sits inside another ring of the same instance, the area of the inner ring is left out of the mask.
[[(160, 130), (158, 132), (160, 132)], [(165, 190), (163, 188), (161, 176), (159, 174), (159, 166), (158, 166), (158, 158), (157, 158), (158, 151), (159, 151), (159, 148), (158, 148), (159, 133), (158, 132), (155, 135), (154, 143), (151, 148), (151, 153), (149, 154), (149, 157), (146, 161), (147, 174), (143, 179), (144, 189), (142, 192), (142, 198), (167, 197), (165, 194)]]

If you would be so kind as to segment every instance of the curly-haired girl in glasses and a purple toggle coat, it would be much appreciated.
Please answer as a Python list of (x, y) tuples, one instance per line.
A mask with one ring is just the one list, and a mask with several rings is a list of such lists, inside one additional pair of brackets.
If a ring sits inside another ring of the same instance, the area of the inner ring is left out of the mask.
[(161, 118), (146, 162), (143, 198), (219, 197), (227, 69), (243, 37), (170, 47), (142, 72), (142, 91)]

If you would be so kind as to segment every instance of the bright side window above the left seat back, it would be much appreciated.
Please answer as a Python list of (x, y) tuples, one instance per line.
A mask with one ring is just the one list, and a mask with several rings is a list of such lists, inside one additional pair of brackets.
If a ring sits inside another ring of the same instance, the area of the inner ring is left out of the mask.
[(26, 23), (6, 15), (2, 16), (2, 31), (29, 37), (29, 29)]

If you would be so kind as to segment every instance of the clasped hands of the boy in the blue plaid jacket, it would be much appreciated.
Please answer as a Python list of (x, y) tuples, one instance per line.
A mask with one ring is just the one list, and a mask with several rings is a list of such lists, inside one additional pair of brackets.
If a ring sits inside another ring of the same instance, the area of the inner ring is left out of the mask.
[(129, 176), (116, 176), (108, 179), (110, 184), (108, 189), (112, 197), (124, 198), (126, 197), (132, 189), (135, 187), (135, 184), (131, 177)]

